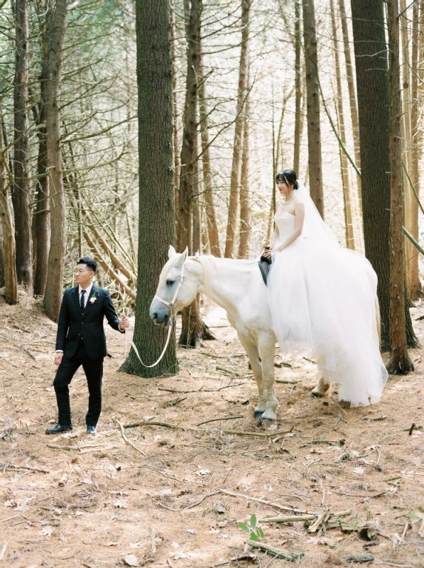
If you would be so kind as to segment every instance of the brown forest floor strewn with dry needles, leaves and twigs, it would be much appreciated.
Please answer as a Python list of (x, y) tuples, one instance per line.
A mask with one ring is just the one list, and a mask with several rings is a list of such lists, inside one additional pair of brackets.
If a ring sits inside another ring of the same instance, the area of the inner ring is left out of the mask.
[[(424, 345), (424, 305), (412, 314)], [(389, 378), (380, 404), (352, 410), (334, 392), (310, 398), (311, 361), (278, 356), (280, 407), (270, 425), (254, 420), (256, 385), (222, 310), (205, 314), (219, 339), (179, 350), (180, 373), (170, 378), (116, 372), (124, 338), (108, 329), (98, 434), (85, 433), (87, 386), (78, 371), (74, 430), (48, 437), (56, 422), (55, 324), (23, 293), (14, 307), (0, 300), (0, 321), (0, 566), (290, 565), (245, 545), (249, 535), (237, 522), (255, 513), (261, 542), (286, 555), (302, 551), (308, 568), (348, 565), (349, 557), (423, 567), (422, 349), (411, 351), (414, 373)], [(200, 426), (212, 432), (127, 428), (136, 448), (114, 420), (196, 426), (234, 416)], [(310, 520), (264, 521), (301, 511)]]

